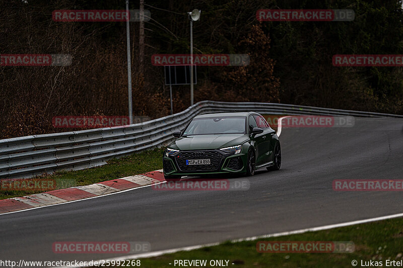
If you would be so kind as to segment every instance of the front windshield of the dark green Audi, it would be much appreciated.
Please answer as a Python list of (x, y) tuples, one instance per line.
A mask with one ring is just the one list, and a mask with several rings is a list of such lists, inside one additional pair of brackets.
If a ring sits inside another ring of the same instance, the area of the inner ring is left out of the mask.
[(245, 117), (195, 118), (183, 132), (183, 136), (207, 134), (245, 134)]

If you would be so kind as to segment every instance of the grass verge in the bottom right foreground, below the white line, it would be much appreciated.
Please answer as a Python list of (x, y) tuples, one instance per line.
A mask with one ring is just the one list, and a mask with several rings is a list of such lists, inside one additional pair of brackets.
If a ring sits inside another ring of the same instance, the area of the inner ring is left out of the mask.
[[(355, 244), (355, 250), (353, 253), (259, 253), (256, 250), (257, 241), (352, 241)], [(207, 265), (204, 267), (212, 267), (209, 264), (210, 260), (229, 260), (229, 267), (240, 268), (354, 267), (353, 260), (358, 261), (356, 267), (361, 267), (361, 260), (363, 264), (368, 264), (366, 266), (370, 266), (371, 260), (372, 266), (376, 265), (375, 261), (378, 261), (377, 266), (380, 261), (382, 262), (380, 266), (386, 266), (386, 260), (401, 261), (402, 254), (403, 219), (397, 218), (255, 241), (226, 242), (218, 246), (144, 258), (141, 259), (141, 266), (175, 267), (175, 259), (206, 259)], [(395, 266), (401, 266), (401, 264)]]

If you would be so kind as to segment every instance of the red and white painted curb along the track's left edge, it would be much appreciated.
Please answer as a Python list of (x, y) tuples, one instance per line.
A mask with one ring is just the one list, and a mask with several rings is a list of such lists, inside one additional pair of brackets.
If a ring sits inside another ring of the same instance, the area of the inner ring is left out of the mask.
[(140, 175), (117, 178), (116, 180), (97, 184), (53, 190), (24, 197), (3, 199), (0, 200), (0, 214), (56, 205), (86, 198), (94, 198), (162, 182), (165, 182), (162, 170), (155, 170)]

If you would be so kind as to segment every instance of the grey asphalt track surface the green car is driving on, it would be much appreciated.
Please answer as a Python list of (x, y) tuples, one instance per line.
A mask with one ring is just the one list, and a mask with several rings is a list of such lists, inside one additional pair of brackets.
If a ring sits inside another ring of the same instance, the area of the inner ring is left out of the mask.
[(0, 259), (97, 260), (56, 254), (55, 241), (148, 241), (152, 251), (401, 213), (401, 192), (335, 192), (336, 179), (402, 179), (403, 120), (356, 118), (349, 128), (283, 128), (282, 169), (248, 191), (141, 188), (0, 215)]

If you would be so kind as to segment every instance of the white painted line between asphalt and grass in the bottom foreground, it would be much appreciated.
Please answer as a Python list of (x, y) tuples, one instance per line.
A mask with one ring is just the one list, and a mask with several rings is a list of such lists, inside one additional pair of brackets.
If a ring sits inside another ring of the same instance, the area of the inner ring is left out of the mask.
[[(301, 233), (306, 233), (306, 232), (322, 231), (322, 230), (328, 230), (328, 229), (333, 229), (333, 228), (339, 228), (339, 227), (345, 227), (345, 226), (350, 226), (350, 225), (363, 224), (363, 223), (381, 221), (381, 220), (387, 220), (387, 219), (393, 219), (393, 218), (400, 218), (400, 217), (403, 217), (403, 213), (387, 215), (387, 216), (382, 216), (382, 217), (376, 217), (376, 218), (370, 218), (370, 219), (365, 219), (365, 220), (357, 220), (357, 221), (350, 221), (350, 222), (344, 222), (344, 223), (323, 225), (323, 226), (300, 229), (300, 230), (294, 230), (294, 231), (289, 231), (289, 232), (281, 232), (281, 233), (274, 233), (274, 234), (264, 234), (264, 235), (258, 235), (258, 236), (240, 238), (240, 239), (234, 239), (234, 240), (231, 240), (231, 242), (236, 243), (236, 242), (242, 242), (242, 241), (256, 240), (256, 239), (260, 239), (260, 238), (279, 237), (279, 236), (286, 236), (286, 235), (292, 235), (292, 234), (301, 234)], [(199, 249), (199, 248), (207, 247), (207, 246), (216, 246), (216, 245), (219, 245), (219, 244), (221, 244), (221, 243), (216, 242), (216, 243), (210, 243), (210, 244), (185, 246), (185, 247), (179, 247), (179, 248), (172, 248), (172, 249), (165, 249), (165, 250), (159, 250), (159, 251), (146, 252), (146, 253), (141, 253), (141, 254), (126, 255), (126, 256), (121, 256), (121, 257), (116, 257), (116, 258), (108, 258), (108, 259), (110, 259), (110, 260), (112, 260), (112, 259), (114, 259), (114, 260), (125, 260), (125, 259), (150, 258), (150, 257), (161, 256), (161, 255), (164, 255), (164, 254), (175, 253), (175, 252), (178, 252), (178, 251), (190, 251), (190, 250)], [(99, 262), (99, 260), (98, 260), (98, 262)], [(87, 267), (87, 266), (71, 266), (71, 267)]]

